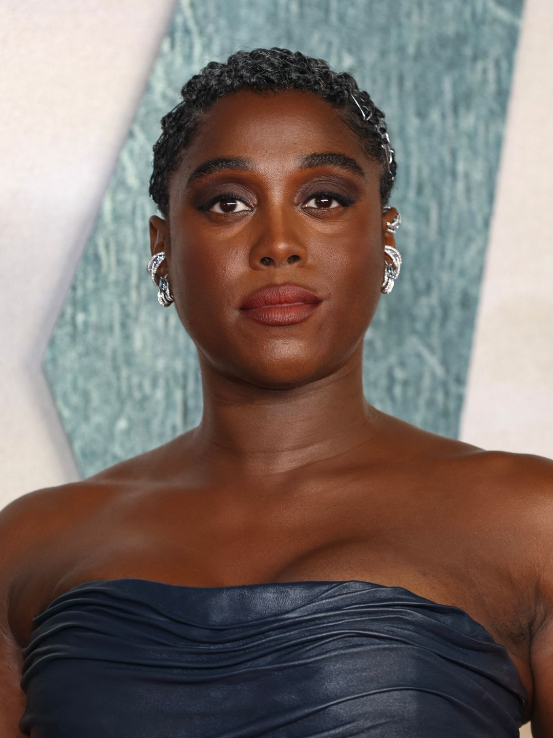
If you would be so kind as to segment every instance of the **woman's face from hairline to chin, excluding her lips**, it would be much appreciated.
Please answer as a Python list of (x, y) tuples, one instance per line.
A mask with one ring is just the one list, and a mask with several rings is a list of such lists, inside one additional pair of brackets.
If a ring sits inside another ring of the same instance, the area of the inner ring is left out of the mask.
[[(348, 361), (383, 280), (379, 185), (379, 165), (314, 94), (235, 92), (210, 108), (170, 180), (168, 221), (150, 218), (152, 252), (167, 255), (159, 273), (202, 364), (278, 389)], [(274, 284), (321, 301), (291, 325), (240, 309)]]

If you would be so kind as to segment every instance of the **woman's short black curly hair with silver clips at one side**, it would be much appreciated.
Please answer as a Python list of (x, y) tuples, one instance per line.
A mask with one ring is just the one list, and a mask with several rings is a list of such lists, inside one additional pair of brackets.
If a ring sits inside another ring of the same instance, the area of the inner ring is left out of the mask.
[(181, 89), (182, 100), (161, 119), (162, 133), (153, 146), (150, 196), (162, 215), (169, 214), (170, 176), (181, 164), (202, 115), (220, 97), (244, 89), (296, 89), (327, 100), (358, 135), (366, 154), (382, 165), (380, 198), (383, 205), (388, 202), (397, 165), (383, 112), (347, 72), (334, 72), (323, 59), (274, 47), (236, 52), (224, 64), (212, 61)]

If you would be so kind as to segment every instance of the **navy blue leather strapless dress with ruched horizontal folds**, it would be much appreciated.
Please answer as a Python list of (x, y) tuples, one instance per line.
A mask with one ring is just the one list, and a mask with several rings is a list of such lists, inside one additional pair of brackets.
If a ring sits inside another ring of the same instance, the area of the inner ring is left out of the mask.
[(403, 587), (97, 580), (33, 624), (33, 738), (516, 738), (527, 700), (481, 624)]

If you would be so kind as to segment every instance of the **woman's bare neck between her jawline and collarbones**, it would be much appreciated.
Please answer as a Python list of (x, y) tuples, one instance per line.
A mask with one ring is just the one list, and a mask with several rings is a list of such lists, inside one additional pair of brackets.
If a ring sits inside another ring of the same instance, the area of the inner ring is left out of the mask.
[(362, 345), (330, 376), (274, 390), (223, 377), (201, 360), (204, 413), (196, 461), (230, 477), (270, 477), (346, 454), (375, 435), (365, 399)]

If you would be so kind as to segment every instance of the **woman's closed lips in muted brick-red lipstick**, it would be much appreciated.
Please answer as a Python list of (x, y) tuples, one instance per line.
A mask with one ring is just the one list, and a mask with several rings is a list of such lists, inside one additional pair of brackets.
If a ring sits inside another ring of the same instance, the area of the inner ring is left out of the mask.
[(256, 323), (294, 325), (302, 323), (320, 305), (321, 298), (296, 284), (270, 284), (244, 300), (240, 311)]

